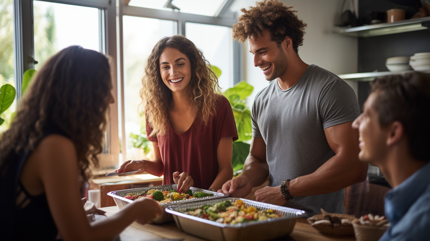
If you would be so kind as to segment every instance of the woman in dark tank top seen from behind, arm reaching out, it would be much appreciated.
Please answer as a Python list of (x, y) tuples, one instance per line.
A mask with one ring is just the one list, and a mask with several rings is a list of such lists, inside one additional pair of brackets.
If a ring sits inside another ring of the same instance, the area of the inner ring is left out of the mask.
[(0, 139), (3, 238), (112, 240), (133, 221), (161, 214), (144, 198), (115, 216), (87, 220), (80, 183), (90, 165), (98, 166), (111, 89), (107, 58), (80, 46), (61, 50), (38, 71)]

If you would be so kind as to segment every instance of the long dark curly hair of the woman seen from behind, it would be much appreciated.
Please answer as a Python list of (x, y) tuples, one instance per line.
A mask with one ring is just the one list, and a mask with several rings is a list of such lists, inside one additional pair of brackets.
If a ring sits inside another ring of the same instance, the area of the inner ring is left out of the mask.
[(70, 46), (37, 72), (9, 130), (0, 139), (0, 173), (14, 153), (34, 150), (43, 131), (57, 127), (74, 143), (81, 178), (90, 161), (98, 166), (111, 92), (108, 59), (94, 50)]

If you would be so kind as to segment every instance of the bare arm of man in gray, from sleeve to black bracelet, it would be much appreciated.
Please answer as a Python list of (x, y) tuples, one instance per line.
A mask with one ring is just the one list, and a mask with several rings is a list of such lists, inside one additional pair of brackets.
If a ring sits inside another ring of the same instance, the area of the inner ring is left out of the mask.
[(351, 124), (352, 121), (324, 130), (335, 155), (314, 173), (291, 180), (289, 192), (292, 196), (336, 192), (366, 179), (367, 164), (358, 159), (358, 132)]

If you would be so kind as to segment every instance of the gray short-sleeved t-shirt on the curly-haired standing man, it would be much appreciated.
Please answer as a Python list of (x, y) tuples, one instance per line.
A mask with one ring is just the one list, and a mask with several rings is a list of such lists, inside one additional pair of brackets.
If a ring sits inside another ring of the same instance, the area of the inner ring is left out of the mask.
[[(315, 172), (335, 155), (324, 129), (353, 121), (360, 114), (352, 88), (335, 74), (310, 65), (298, 82), (281, 90), (277, 80), (261, 90), (252, 107), (252, 136), (267, 148), (270, 186)], [(294, 197), (285, 206), (308, 216), (345, 213), (345, 189), (323, 195)]]

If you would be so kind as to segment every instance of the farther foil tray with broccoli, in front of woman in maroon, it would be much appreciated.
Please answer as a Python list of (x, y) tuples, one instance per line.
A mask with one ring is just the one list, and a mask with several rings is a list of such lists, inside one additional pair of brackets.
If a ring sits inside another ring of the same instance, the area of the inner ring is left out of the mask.
[[(139, 195), (142, 192), (147, 192), (151, 189), (158, 189), (160, 191), (170, 191), (170, 190), (176, 190), (177, 184), (167, 184), (167, 185), (160, 185), (160, 186), (152, 186), (152, 187), (144, 187), (144, 188), (134, 188), (134, 189), (127, 189), (127, 190), (120, 190), (120, 191), (114, 191), (114, 192), (108, 192), (107, 195), (114, 198), (115, 203), (119, 207), (119, 209), (123, 209), (127, 204), (132, 203), (133, 201), (127, 198), (124, 198), (127, 193), (132, 193), (133, 195)], [(212, 193), (213, 197), (206, 197), (206, 198), (194, 198), (189, 200), (181, 200), (181, 201), (173, 201), (165, 204), (160, 204), (161, 207), (163, 207), (163, 213), (158, 216), (157, 218), (153, 219), (153, 223), (165, 223), (165, 222), (173, 222), (172, 214), (166, 213), (164, 210), (165, 207), (176, 204), (176, 203), (189, 203), (189, 202), (195, 202), (195, 201), (201, 201), (201, 200), (212, 200), (217, 198), (226, 198), (229, 196), (229, 194), (224, 193), (218, 193), (218, 192), (212, 192), (209, 190), (201, 189), (201, 188), (195, 188), (190, 187), (191, 191), (194, 192), (206, 192), (206, 193)]]

